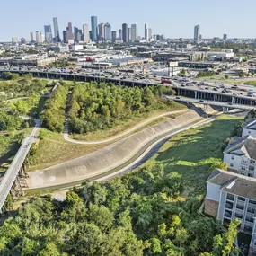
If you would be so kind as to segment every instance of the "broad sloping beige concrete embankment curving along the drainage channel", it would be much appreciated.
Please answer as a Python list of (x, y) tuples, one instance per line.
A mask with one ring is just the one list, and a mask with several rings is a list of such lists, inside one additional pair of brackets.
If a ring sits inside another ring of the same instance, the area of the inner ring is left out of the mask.
[(96, 175), (109, 172), (127, 163), (144, 146), (172, 130), (182, 128), (200, 119), (199, 114), (190, 110), (176, 119), (168, 119), (150, 128), (145, 128), (92, 154), (60, 163), (37, 172), (31, 172), (27, 180), (28, 190), (65, 187), (77, 181), (84, 181)]

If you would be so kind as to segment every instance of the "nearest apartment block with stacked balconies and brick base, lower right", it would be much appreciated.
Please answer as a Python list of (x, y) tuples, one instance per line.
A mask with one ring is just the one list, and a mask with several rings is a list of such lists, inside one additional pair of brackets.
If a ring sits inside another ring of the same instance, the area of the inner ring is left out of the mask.
[(237, 218), (239, 230), (252, 234), (249, 255), (256, 254), (256, 180), (243, 175), (215, 170), (207, 179), (205, 213), (223, 224)]

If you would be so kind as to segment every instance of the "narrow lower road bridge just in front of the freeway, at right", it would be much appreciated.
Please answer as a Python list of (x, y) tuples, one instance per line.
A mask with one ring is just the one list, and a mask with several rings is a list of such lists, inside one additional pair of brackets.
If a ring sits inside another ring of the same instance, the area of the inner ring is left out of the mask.
[(238, 109), (238, 110), (255, 110), (255, 106), (249, 106), (249, 105), (231, 104), (231, 103), (225, 103), (225, 102), (214, 102), (214, 101), (207, 101), (207, 100), (196, 100), (191, 98), (175, 97), (175, 96), (166, 96), (166, 97), (176, 102), (199, 103), (203, 105), (227, 107), (227, 108)]

